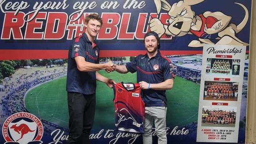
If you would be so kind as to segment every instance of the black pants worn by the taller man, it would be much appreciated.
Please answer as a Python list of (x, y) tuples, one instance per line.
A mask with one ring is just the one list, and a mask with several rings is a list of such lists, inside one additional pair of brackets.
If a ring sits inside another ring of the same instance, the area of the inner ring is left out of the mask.
[(94, 121), (95, 104), (95, 93), (68, 92), (68, 144), (89, 144), (89, 135)]

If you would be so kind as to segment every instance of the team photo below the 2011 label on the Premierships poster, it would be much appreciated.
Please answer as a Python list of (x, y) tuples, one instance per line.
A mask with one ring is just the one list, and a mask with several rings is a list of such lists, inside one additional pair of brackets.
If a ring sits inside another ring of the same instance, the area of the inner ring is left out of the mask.
[(236, 112), (213, 110), (202, 112), (202, 123), (205, 124), (235, 124), (236, 123)]

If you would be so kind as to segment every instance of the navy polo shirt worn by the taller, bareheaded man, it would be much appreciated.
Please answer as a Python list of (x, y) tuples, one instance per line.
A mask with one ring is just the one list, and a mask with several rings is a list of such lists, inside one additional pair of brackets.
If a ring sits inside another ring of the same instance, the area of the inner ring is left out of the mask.
[(96, 92), (96, 72), (81, 72), (77, 69), (75, 57), (85, 57), (85, 61), (99, 63), (100, 50), (98, 46), (89, 41), (83, 33), (72, 40), (69, 48), (67, 87), (68, 92), (93, 94)]

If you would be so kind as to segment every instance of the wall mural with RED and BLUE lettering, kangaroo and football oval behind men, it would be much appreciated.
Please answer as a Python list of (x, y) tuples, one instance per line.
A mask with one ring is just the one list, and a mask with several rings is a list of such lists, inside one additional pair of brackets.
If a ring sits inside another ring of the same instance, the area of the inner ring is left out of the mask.
[[(67, 52), (71, 39), (85, 30), (84, 18), (90, 13), (103, 19), (96, 37), (100, 63), (111, 60), (126, 65), (137, 54), (146, 53), (143, 37), (147, 31), (161, 36), (161, 54), (173, 62), (176, 74), (173, 89), (166, 92), (167, 138), (173, 143), (197, 143), (203, 44), (246, 46), (241, 113), (236, 118), (238, 143), (244, 143), (251, 3), (0, 0), (0, 143), (67, 142)], [(136, 74), (100, 73), (117, 82), (136, 82)], [(96, 91), (91, 142), (141, 144), (141, 135), (113, 131), (113, 89), (97, 82)], [(22, 124), (27, 133), (22, 133)]]

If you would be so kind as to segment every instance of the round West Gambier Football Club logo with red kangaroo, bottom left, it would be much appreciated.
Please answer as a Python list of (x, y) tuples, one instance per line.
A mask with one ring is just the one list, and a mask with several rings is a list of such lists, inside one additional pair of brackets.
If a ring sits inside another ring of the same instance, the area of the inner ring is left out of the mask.
[(6, 144), (9, 142), (19, 142), (19, 144), (30, 142), (33, 144), (33, 141), (40, 141), (43, 137), (43, 124), (33, 114), (15, 113), (4, 122), (2, 134)]

